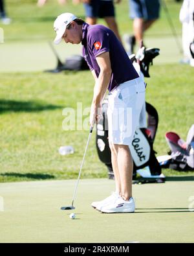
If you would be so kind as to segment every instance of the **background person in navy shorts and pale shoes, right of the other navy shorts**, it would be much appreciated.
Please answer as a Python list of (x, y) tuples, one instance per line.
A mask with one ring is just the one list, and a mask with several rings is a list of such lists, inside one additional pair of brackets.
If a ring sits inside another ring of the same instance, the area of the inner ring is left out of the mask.
[(135, 43), (143, 40), (144, 32), (158, 19), (160, 0), (129, 0), (130, 17), (133, 19), (133, 36), (125, 35), (127, 53), (132, 54)]

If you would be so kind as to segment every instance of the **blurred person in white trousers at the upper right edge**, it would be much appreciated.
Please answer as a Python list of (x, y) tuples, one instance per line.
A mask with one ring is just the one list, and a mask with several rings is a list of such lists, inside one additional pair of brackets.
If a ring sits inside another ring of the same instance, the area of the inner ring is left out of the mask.
[(182, 63), (192, 62), (192, 56), (189, 49), (190, 43), (194, 39), (194, 1), (184, 0), (180, 8), (179, 19), (182, 23), (182, 49), (184, 58)]

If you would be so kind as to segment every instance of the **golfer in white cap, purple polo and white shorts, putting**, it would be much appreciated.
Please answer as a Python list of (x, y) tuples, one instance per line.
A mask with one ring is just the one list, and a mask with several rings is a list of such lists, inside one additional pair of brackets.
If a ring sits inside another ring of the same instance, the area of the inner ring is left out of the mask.
[(144, 81), (136, 73), (122, 43), (107, 27), (89, 25), (73, 14), (64, 13), (54, 21), (54, 30), (54, 43), (64, 40), (82, 44), (83, 56), (95, 80), (91, 126), (98, 122), (103, 98), (109, 90), (109, 146), (116, 191), (102, 201), (93, 202), (92, 207), (103, 213), (133, 213), (133, 159), (129, 145), (145, 100)]

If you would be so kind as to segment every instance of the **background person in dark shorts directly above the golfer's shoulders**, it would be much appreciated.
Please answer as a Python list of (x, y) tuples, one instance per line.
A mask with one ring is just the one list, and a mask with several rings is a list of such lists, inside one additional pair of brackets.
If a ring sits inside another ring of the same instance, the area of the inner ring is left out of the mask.
[[(120, 3), (121, 0), (116, 0)], [(113, 0), (74, 0), (74, 3), (83, 3), (85, 8), (85, 21), (89, 25), (97, 23), (98, 17), (105, 19), (109, 29), (113, 30), (118, 40), (122, 41), (116, 23)]]

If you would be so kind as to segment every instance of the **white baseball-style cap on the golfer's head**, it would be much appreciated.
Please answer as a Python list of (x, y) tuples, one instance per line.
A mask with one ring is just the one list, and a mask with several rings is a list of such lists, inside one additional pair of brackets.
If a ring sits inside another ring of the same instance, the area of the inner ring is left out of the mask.
[(65, 33), (65, 29), (67, 25), (69, 25), (71, 21), (74, 21), (74, 19), (77, 19), (77, 17), (74, 16), (74, 14), (70, 14), (70, 12), (65, 12), (64, 14), (60, 14), (56, 18), (53, 25), (54, 30), (56, 32), (56, 38), (54, 39), (54, 43), (56, 45), (60, 43), (62, 36)]

